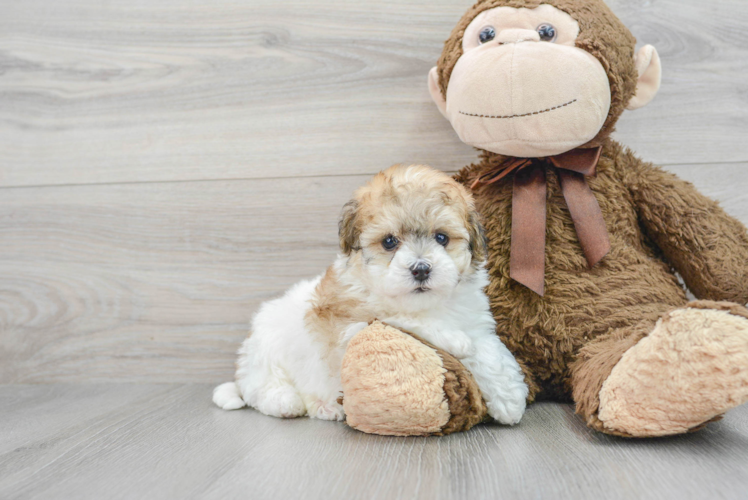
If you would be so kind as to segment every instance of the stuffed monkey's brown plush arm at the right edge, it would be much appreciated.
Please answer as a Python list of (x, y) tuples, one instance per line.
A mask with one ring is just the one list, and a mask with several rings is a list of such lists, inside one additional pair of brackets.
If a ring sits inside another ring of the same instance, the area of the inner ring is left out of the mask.
[(618, 158), (645, 233), (699, 299), (748, 302), (748, 234), (689, 182), (636, 158)]

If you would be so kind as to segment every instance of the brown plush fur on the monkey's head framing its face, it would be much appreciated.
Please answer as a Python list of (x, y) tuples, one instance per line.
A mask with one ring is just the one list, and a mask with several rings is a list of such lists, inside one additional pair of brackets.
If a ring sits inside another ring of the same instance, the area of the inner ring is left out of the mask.
[(597, 137), (588, 144), (599, 146), (613, 132), (616, 121), (633, 97), (638, 76), (634, 66), (636, 39), (602, 0), (480, 0), (465, 13), (444, 43), (437, 64), (442, 95), (446, 98), (452, 69), (462, 56), (462, 35), (475, 16), (495, 7), (533, 9), (541, 4), (552, 5), (577, 20), (580, 30), (577, 47), (595, 56), (608, 74), (610, 112)]

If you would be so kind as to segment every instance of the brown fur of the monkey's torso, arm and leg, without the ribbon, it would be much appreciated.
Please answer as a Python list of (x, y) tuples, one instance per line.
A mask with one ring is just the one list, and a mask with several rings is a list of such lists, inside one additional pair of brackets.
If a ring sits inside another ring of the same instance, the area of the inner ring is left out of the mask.
[[(484, 152), (457, 179), (470, 185), (505, 160)], [(590, 270), (556, 172), (547, 178), (544, 297), (509, 278), (512, 175), (475, 190), (489, 242), (488, 294), (497, 331), (527, 374), (530, 401), (573, 395), (598, 428), (599, 388), (618, 359), (663, 313), (686, 305), (673, 271), (699, 298), (748, 300), (748, 235), (691, 184), (606, 140), (589, 184), (611, 251)]]

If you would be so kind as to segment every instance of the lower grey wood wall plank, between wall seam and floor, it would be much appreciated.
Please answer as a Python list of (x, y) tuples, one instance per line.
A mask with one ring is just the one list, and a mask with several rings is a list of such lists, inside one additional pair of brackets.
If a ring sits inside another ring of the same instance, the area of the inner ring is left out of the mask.
[[(748, 222), (748, 164), (672, 168)], [(367, 176), (14, 188), (0, 382), (206, 382), (259, 304), (330, 265)]]

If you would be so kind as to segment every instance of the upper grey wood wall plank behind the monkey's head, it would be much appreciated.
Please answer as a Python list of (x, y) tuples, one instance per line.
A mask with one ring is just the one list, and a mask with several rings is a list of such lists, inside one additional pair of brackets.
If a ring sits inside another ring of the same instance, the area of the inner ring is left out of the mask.
[[(455, 170), (426, 74), (472, 0), (0, 1), (0, 186)], [(744, 0), (610, 0), (663, 87), (617, 137), (748, 161)]]

